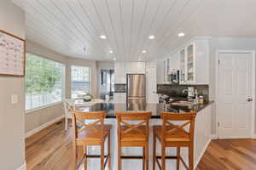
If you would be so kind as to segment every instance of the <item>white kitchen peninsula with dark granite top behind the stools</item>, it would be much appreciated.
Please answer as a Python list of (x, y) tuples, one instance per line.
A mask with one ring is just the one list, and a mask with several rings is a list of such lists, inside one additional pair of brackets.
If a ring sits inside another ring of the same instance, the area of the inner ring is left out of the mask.
[[(111, 148), (112, 148), (112, 166), (113, 170), (117, 169), (117, 126), (115, 119), (116, 111), (151, 111), (152, 116), (150, 120), (150, 126), (153, 125), (161, 125), (160, 113), (161, 112), (175, 112), (177, 114), (182, 114), (186, 111), (195, 111), (197, 112), (197, 116), (195, 118), (195, 152), (194, 152), (194, 161), (195, 167), (201, 159), (204, 151), (207, 148), (207, 145), (211, 141), (211, 105), (212, 101), (206, 101), (202, 105), (172, 105), (172, 104), (146, 104), (146, 103), (138, 103), (138, 104), (96, 104), (90, 107), (81, 108), (82, 111), (106, 111), (107, 118), (105, 119), (105, 123), (112, 124), (113, 129), (111, 132)], [(158, 144), (157, 144), (158, 145)], [(149, 162), (152, 162), (152, 152), (153, 150), (153, 134), (152, 129), (150, 129), (149, 135)], [(89, 150), (90, 154), (98, 153), (98, 148), (91, 147)], [(141, 148), (125, 148), (122, 150), (124, 155), (133, 155), (133, 156), (142, 156)], [(157, 147), (157, 154), (160, 155), (160, 146)], [(176, 150), (173, 148), (168, 148), (166, 150), (166, 156), (176, 156)], [(181, 156), (185, 161), (188, 161), (188, 150), (182, 149)], [(96, 164), (96, 161), (89, 161), (90, 167), (95, 167), (95, 169), (99, 168)], [(141, 160), (125, 160), (123, 161), (123, 167), (125, 170), (141, 170), (142, 169), (142, 161)], [(184, 169), (183, 165), (181, 165), (181, 169)], [(175, 169), (176, 161), (170, 160), (166, 161), (166, 169)], [(149, 163), (149, 169), (153, 169), (152, 163)]]

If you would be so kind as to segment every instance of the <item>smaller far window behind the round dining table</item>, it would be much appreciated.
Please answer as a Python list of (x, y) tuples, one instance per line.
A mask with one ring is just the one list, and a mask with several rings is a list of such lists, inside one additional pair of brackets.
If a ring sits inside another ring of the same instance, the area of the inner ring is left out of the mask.
[(90, 93), (90, 67), (71, 66), (71, 96)]

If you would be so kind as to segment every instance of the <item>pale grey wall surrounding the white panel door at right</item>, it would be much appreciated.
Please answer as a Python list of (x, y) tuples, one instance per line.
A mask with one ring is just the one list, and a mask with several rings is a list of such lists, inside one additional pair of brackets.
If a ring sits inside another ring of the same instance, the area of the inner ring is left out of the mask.
[[(210, 41), (210, 99), (216, 99), (216, 51), (256, 50), (256, 38), (215, 37)], [(255, 101), (256, 99), (254, 99)], [(256, 118), (256, 116), (255, 116)], [(216, 133), (216, 105), (212, 105), (212, 133)], [(255, 120), (256, 122), (256, 120)], [(256, 125), (256, 123), (255, 123)], [(255, 132), (256, 127), (254, 127)], [(256, 133), (256, 132), (255, 132)]]

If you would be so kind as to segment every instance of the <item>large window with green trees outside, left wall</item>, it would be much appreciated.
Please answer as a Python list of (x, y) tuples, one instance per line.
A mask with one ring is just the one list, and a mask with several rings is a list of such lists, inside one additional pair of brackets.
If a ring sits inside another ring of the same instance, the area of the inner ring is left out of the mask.
[(26, 54), (26, 110), (62, 100), (64, 65)]

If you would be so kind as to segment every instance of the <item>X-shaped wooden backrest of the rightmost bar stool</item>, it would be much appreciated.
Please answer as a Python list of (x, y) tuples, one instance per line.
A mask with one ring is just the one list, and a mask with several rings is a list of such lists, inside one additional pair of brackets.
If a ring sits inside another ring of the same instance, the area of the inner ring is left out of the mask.
[[(161, 113), (161, 118), (163, 120), (162, 124), (162, 139), (163, 143), (165, 142), (166, 135), (172, 135), (177, 132), (177, 130), (181, 130), (183, 133), (189, 135), (190, 141), (194, 140), (194, 130), (195, 130), (195, 116), (196, 112), (186, 112), (186, 113), (171, 113), (171, 112), (163, 112)], [(183, 121), (181, 125), (173, 124), (172, 122)], [(170, 130), (168, 126), (172, 126), (173, 128)], [(189, 126), (189, 132), (187, 132), (184, 127)]]

